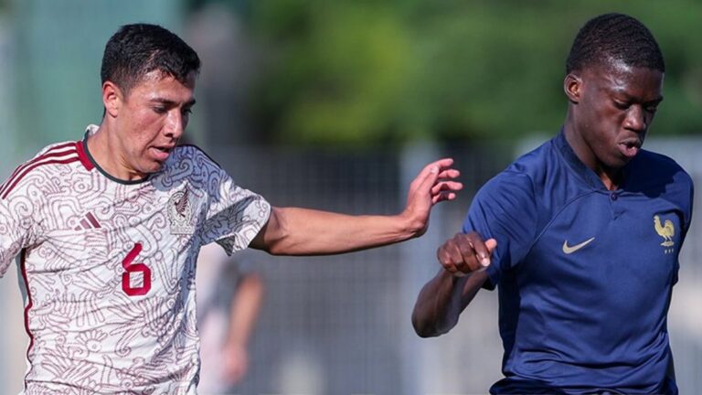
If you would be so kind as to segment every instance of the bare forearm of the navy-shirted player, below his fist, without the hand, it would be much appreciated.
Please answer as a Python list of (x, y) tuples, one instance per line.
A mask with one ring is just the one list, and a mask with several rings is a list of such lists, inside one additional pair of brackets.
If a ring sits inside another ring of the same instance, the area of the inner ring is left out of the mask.
[(417, 335), (433, 337), (449, 332), (486, 280), (486, 272), (457, 277), (441, 268), (422, 287), (414, 304), (412, 326)]

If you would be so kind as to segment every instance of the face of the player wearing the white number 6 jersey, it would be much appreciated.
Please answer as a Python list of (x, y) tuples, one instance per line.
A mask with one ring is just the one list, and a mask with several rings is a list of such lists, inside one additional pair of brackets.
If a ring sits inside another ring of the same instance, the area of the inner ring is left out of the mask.
[(144, 177), (161, 169), (186, 129), (194, 90), (195, 73), (184, 84), (154, 70), (122, 99), (119, 154), (131, 174)]

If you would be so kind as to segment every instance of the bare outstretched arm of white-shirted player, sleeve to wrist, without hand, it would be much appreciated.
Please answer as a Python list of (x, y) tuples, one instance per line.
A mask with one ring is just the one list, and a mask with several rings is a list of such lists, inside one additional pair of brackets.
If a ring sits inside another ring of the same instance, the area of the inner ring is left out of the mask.
[(263, 235), (274, 255), (324, 255), (365, 250), (419, 236), (410, 216), (348, 216), (305, 208), (273, 208)]

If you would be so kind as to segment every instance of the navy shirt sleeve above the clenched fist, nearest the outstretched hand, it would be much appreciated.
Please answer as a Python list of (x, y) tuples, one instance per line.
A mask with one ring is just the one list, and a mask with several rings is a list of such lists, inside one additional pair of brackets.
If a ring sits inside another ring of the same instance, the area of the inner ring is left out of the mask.
[(497, 240), (488, 267), (487, 289), (500, 283), (502, 273), (520, 262), (537, 235), (537, 201), (531, 179), (514, 171), (504, 171), (480, 188), (473, 198), (463, 232), (478, 232), (484, 240)]

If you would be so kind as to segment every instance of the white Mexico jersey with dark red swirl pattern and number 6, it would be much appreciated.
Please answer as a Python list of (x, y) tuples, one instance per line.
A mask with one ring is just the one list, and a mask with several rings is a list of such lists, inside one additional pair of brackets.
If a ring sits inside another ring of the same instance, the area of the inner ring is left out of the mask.
[(196, 393), (197, 251), (246, 248), (270, 210), (194, 146), (133, 183), (84, 142), (20, 165), (0, 187), (0, 276), (18, 256), (24, 393)]

